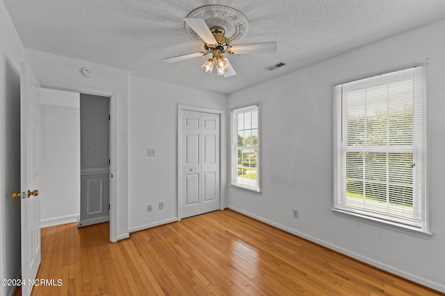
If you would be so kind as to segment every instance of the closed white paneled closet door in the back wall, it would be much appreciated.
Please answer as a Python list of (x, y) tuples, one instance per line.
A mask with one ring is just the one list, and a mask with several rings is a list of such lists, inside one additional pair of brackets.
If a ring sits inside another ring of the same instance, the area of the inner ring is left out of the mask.
[(179, 115), (180, 218), (220, 208), (220, 115)]

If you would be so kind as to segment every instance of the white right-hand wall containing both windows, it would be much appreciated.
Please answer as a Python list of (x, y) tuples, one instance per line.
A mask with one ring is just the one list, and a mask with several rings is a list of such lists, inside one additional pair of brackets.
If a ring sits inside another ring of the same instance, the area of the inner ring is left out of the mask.
[[(261, 101), (262, 193), (230, 187), (229, 207), (445, 292), (445, 21), (229, 95)], [(335, 216), (332, 82), (430, 58), (428, 199), (432, 238)], [(279, 71), (279, 70), (277, 70)], [(299, 218), (292, 218), (292, 209)]]

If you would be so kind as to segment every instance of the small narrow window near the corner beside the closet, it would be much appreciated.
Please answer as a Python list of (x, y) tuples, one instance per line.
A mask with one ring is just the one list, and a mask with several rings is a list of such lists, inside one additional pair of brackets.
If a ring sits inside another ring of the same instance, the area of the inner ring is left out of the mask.
[(231, 183), (259, 192), (258, 105), (232, 110)]

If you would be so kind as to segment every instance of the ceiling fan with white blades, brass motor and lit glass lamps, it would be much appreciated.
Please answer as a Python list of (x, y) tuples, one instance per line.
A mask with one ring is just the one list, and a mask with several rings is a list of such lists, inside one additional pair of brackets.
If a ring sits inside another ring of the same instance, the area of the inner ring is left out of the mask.
[(276, 53), (277, 42), (261, 42), (252, 44), (230, 45), (232, 41), (240, 40), (248, 31), (248, 20), (238, 10), (228, 6), (202, 6), (193, 10), (186, 18), (185, 28), (189, 35), (204, 42), (204, 51), (177, 55), (163, 59), (164, 62), (179, 62), (202, 55), (211, 54), (202, 68), (211, 73), (216, 66), (218, 75), (234, 76), (236, 71), (229, 60), (223, 55), (245, 53)]

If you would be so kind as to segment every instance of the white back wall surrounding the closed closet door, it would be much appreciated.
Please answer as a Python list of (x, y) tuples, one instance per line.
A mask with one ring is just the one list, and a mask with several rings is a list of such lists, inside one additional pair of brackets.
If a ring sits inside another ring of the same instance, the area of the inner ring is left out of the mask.
[[(113, 102), (111, 98), (111, 124), (116, 125), (118, 130), (115, 143), (118, 147), (118, 164), (117, 171), (112, 168), (111, 173), (118, 180), (118, 238), (124, 238), (138, 229), (176, 220), (177, 105), (227, 110), (227, 96), (128, 76), (126, 71), (120, 69), (50, 53), (26, 49), (25, 55), (43, 85), (67, 85), (65, 89), (90, 87), (117, 92), (118, 99)], [(95, 76), (83, 77), (80, 72), (83, 67), (90, 68)], [(113, 114), (113, 104), (116, 114)], [(113, 117), (117, 117), (117, 123)], [(226, 138), (225, 120), (223, 114), (222, 139)], [(113, 146), (113, 138), (111, 142)], [(147, 157), (147, 148), (156, 148), (156, 157)], [(227, 203), (225, 155), (223, 146), (221, 198)], [(157, 210), (159, 201), (165, 202), (162, 211)], [(147, 213), (148, 204), (154, 205), (151, 214)]]

